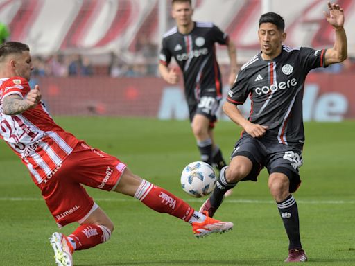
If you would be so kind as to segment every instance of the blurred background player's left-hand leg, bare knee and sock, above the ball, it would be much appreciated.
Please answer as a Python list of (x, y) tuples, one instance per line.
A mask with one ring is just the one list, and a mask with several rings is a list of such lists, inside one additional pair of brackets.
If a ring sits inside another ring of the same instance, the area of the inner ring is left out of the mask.
[(195, 114), (191, 122), (193, 136), (195, 136), (201, 161), (212, 165), (213, 139), (209, 135), (209, 118), (203, 114)]

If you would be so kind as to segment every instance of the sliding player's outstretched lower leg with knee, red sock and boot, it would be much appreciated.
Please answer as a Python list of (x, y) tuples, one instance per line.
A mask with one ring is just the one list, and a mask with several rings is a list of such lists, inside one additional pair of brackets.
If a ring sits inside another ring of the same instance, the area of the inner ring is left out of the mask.
[(134, 175), (128, 168), (125, 168), (114, 191), (135, 197), (154, 211), (168, 213), (189, 222), (193, 226), (195, 236), (228, 231), (233, 227), (232, 222), (220, 222), (195, 211), (187, 202)]

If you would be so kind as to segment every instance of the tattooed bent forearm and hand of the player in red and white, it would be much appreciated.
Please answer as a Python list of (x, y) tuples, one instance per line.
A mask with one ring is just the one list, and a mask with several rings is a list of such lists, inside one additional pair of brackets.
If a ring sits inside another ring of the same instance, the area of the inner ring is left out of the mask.
[(35, 86), (35, 89), (31, 89), (24, 99), (17, 94), (9, 95), (3, 99), (3, 114), (21, 114), (22, 112), (35, 107), (40, 103), (41, 98), (42, 95), (38, 85)]

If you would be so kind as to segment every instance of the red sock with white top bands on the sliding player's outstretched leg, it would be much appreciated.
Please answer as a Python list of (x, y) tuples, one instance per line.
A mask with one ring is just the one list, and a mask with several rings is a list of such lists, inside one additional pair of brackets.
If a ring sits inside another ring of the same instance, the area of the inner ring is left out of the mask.
[(146, 180), (141, 182), (135, 199), (139, 199), (154, 211), (168, 213), (186, 222), (189, 222), (194, 213), (193, 208), (182, 199)]

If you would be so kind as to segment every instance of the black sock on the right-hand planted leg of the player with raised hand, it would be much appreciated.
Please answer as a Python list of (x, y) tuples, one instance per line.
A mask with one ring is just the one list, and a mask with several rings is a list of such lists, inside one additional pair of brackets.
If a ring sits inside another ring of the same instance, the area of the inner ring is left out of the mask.
[(289, 195), (283, 202), (277, 202), (282, 222), (290, 240), (288, 249), (302, 249), (300, 240), (300, 222), (298, 220), (297, 203), (292, 195)]

